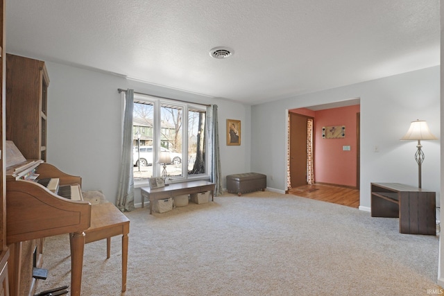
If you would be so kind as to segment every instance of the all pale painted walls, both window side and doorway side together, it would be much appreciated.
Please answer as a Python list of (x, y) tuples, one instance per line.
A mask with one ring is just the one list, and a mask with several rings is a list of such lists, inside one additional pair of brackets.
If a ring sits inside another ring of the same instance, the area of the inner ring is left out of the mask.
[[(159, 96), (219, 105), (225, 176), (255, 171), (271, 189), (286, 189), (287, 110), (361, 98), (361, 206), (370, 207), (370, 182), (417, 184), (416, 143), (399, 141), (410, 121), (423, 119), (440, 134), (439, 67), (255, 105), (126, 80), (107, 73), (46, 62), (49, 71), (48, 162), (83, 177), (83, 189), (115, 200), (119, 178), (121, 96), (134, 88)], [(241, 146), (226, 146), (225, 120), (241, 120)], [(440, 141), (423, 141), (422, 187), (440, 192)], [(373, 146), (379, 146), (379, 153)], [(137, 202), (137, 200), (136, 200)]]

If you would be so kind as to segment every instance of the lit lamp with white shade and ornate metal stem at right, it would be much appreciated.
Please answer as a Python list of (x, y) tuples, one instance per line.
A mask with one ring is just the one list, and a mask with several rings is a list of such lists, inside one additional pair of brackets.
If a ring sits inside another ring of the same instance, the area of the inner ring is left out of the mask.
[(430, 132), (427, 122), (419, 119), (411, 122), (407, 134), (405, 134), (404, 137), (401, 138), (401, 140), (418, 140), (418, 145), (416, 145), (416, 148), (418, 148), (418, 150), (416, 150), (415, 153), (415, 159), (418, 163), (418, 188), (421, 188), (421, 165), (425, 157), (424, 153), (421, 150), (421, 140), (437, 139), (438, 138), (435, 137), (432, 132)]

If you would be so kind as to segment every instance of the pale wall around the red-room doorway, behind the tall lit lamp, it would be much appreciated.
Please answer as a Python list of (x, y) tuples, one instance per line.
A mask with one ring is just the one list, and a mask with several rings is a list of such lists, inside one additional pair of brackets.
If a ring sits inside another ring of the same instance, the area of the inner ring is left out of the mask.
[[(431, 67), (253, 106), (252, 171), (266, 174), (268, 187), (284, 191), (287, 110), (361, 98), (361, 207), (370, 207), (370, 182), (418, 186), (416, 142), (399, 139), (416, 119), (427, 121), (439, 137), (439, 71), (439, 67)], [(373, 152), (375, 145), (379, 153)], [(436, 191), (439, 200), (440, 141), (422, 141), (422, 146), (422, 188)]]

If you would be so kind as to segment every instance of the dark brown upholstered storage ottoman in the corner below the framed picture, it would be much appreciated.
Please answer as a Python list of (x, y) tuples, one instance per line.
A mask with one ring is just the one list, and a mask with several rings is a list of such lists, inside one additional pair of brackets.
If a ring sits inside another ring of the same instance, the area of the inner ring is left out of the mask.
[(229, 193), (242, 193), (252, 191), (265, 191), (266, 175), (259, 173), (243, 173), (235, 175), (227, 175), (227, 191)]

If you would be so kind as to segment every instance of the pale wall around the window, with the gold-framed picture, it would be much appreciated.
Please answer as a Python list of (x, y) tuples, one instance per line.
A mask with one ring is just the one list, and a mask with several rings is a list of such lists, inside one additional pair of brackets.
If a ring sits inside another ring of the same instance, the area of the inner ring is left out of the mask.
[[(135, 92), (218, 105), (223, 187), (225, 175), (250, 171), (249, 105), (53, 62), (46, 62), (46, 67), (50, 79), (47, 162), (65, 173), (80, 175), (83, 190), (101, 190), (111, 202), (117, 198), (122, 112), (118, 88), (133, 88)], [(226, 119), (241, 121), (241, 146), (226, 146)], [(137, 204), (140, 191), (136, 190), (135, 195)]]

